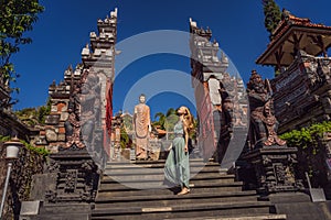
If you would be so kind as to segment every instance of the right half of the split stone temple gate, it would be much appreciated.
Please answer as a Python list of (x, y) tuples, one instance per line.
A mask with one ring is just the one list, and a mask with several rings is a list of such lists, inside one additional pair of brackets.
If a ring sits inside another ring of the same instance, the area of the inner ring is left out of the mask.
[[(190, 20), (192, 86), (200, 121), (197, 144), (204, 160), (213, 157), (228, 168), (237, 160), (247, 133), (247, 99), (239, 76), (227, 73), (228, 58), (212, 31)], [(226, 155), (226, 156), (225, 156)]]

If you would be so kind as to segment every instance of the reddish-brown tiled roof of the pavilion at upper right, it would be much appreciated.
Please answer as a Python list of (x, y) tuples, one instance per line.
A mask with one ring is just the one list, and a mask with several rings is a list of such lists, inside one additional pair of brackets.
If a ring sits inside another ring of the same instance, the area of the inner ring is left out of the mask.
[(293, 63), (299, 51), (305, 51), (311, 56), (328, 57), (327, 50), (330, 46), (331, 26), (312, 23), (309, 19), (295, 16), (284, 10), (271, 42), (256, 63), (281, 69)]

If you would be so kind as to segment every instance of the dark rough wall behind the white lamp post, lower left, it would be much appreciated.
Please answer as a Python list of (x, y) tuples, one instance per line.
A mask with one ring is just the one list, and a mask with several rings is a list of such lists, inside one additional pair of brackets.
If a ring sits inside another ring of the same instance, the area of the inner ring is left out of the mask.
[[(2, 198), (7, 174), (6, 147), (0, 142), (0, 197)], [(18, 219), (21, 202), (29, 200), (32, 176), (43, 173), (46, 157), (23, 146), (19, 153), (19, 160), (13, 163), (7, 201), (3, 209), (3, 220)]]

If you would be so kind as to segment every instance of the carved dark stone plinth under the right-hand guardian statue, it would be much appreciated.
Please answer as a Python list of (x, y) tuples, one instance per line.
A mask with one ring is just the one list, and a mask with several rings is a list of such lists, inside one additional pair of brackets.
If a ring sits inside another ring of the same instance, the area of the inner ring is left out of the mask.
[(243, 155), (243, 158), (254, 167), (259, 193), (296, 191), (302, 188), (293, 174), (297, 151), (297, 147), (273, 145)]

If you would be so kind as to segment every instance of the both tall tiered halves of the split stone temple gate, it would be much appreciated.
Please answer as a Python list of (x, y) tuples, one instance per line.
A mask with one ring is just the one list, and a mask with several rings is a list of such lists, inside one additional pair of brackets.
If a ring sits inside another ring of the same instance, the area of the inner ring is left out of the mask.
[[(46, 187), (33, 194), (32, 200), (88, 204), (95, 199), (99, 170), (110, 148), (117, 9), (98, 20), (97, 28), (98, 33), (92, 32), (82, 50), (82, 63), (70, 66), (64, 80), (49, 88), (52, 109), (36, 145), (52, 152), (51, 163), (46, 174), (34, 177), (35, 186)], [(221, 162), (234, 129), (247, 125), (247, 113), (236, 113), (247, 109), (244, 85), (226, 73), (227, 57), (217, 57), (220, 48), (217, 42), (210, 42), (211, 31), (197, 29), (193, 21), (190, 31), (192, 86), (203, 122), (199, 142), (205, 160), (213, 156)]]

